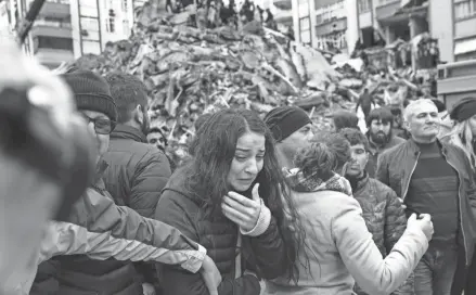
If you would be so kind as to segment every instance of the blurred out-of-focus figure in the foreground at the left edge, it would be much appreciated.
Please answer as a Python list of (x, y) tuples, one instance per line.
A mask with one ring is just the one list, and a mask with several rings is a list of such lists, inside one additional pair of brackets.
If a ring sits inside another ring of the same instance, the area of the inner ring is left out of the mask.
[(0, 44), (0, 294), (28, 268), (44, 223), (61, 220), (94, 172), (94, 145), (68, 88), (15, 43)]

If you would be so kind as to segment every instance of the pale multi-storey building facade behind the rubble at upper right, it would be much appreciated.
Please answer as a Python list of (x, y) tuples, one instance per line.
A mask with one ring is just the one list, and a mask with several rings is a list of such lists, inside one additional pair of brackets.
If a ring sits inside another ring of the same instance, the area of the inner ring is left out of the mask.
[[(442, 62), (476, 59), (476, 0), (290, 0), (297, 40), (350, 53), (427, 33)], [(449, 13), (450, 12), (450, 13)], [(411, 56), (409, 56), (411, 59)]]

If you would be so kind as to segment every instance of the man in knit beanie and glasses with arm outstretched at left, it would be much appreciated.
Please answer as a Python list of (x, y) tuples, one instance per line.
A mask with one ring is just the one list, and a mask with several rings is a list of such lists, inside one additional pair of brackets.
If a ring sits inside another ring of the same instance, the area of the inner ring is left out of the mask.
[(181, 265), (191, 272), (196, 272), (202, 261), (205, 267), (208, 259), (204, 248), (177, 229), (114, 204), (102, 181), (107, 168), (102, 156), (117, 117), (108, 85), (92, 72), (63, 77), (94, 136), (98, 169), (94, 181), (74, 204), (67, 219), (50, 225), (39, 260), (57, 257), (40, 265), (30, 294), (142, 295), (141, 281), (137, 280), (131, 262), (110, 257)]

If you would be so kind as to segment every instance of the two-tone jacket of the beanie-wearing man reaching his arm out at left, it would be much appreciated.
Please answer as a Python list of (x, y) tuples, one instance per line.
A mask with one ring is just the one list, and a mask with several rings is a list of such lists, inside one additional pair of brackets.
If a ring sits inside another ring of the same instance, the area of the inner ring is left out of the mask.
[[(180, 265), (196, 272), (205, 249), (177, 229), (114, 204), (100, 176), (66, 222), (53, 222), (43, 240), (30, 294), (142, 294), (133, 266), (117, 260)], [(106, 261), (97, 261), (105, 260)], [(128, 274), (131, 274), (128, 277)], [(197, 274), (198, 275), (198, 274)]]

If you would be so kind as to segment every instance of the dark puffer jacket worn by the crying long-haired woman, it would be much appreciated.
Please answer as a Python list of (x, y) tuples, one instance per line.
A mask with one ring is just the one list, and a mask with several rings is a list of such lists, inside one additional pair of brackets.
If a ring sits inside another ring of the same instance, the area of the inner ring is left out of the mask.
[[(167, 183), (157, 204), (156, 219), (177, 228), (207, 249), (222, 275), (218, 294), (259, 295), (258, 279), (243, 272), (259, 269), (258, 274), (265, 279), (274, 279), (285, 272), (285, 248), (276, 221), (272, 217), (270, 226), (259, 236), (243, 236), (242, 273), (234, 279), (239, 228), (221, 213), (205, 216), (200, 192), (188, 192), (184, 188), (185, 169), (186, 166), (179, 168)], [(168, 266), (163, 266), (160, 271), (165, 295), (208, 295), (198, 274)]]

